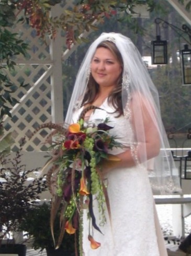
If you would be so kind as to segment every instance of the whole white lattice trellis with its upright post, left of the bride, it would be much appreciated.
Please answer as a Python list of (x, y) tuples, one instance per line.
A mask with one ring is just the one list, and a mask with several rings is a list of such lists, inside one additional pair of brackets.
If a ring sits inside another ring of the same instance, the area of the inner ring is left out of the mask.
[[(60, 6), (53, 8), (53, 13), (62, 12)], [(62, 41), (51, 42), (47, 38), (46, 44), (36, 36), (35, 29), (26, 24), (18, 24), (13, 28), (14, 33), (20, 34), (29, 44), (26, 58), (15, 59), (17, 66), (9, 73), (10, 79), (16, 85), (22, 81), (28, 84), (20, 87), (13, 95), (19, 104), (13, 106), (12, 118), (4, 120), (5, 130), (12, 131), (15, 139), (13, 151), (17, 150), (23, 137), (29, 138), (31, 133), (44, 122), (63, 122), (62, 100)], [(59, 57), (60, 56), (60, 57)], [(48, 130), (37, 132), (32, 139), (26, 139), (25, 151), (46, 151), (44, 145)]]

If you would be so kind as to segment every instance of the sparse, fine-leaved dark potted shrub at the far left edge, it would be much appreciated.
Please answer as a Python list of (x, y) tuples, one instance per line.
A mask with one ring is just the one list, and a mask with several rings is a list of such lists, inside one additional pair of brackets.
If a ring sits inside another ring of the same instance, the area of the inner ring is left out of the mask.
[[(13, 248), (18, 250), (16, 234), (26, 214), (30, 211), (30, 201), (40, 199), (40, 194), (47, 190), (43, 178), (28, 180), (30, 173), (21, 163), (21, 151), (15, 152), (14, 157), (0, 154), (0, 253)], [(24, 247), (24, 245), (22, 245)], [(26, 248), (24, 249), (26, 252)], [(19, 256), (25, 256), (18, 253)]]

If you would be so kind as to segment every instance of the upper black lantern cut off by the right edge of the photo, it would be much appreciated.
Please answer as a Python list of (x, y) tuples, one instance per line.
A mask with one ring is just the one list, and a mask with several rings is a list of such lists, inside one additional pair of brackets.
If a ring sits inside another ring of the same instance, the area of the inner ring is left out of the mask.
[(182, 52), (183, 84), (191, 85), (191, 49), (184, 46)]

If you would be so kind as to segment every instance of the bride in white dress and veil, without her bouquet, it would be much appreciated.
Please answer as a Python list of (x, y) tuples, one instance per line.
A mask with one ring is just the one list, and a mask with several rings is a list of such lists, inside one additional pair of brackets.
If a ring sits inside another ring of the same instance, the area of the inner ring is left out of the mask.
[[(111, 222), (92, 230), (100, 247), (88, 242), (89, 220), (83, 212), (83, 255), (167, 255), (152, 191), (179, 191), (171, 176), (173, 162), (162, 125), (158, 91), (131, 40), (117, 33), (103, 33), (89, 47), (76, 78), (66, 122), (109, 119), (110, 134), (124, 145), (109, 153), (120, 161), (99, 167), (107, 182)], [(152, 162), (152, 164), (151, 164)], [(151, 176), (151, 178), (149, 178)], [(99, 219), (94, 200), (94, 213)]]

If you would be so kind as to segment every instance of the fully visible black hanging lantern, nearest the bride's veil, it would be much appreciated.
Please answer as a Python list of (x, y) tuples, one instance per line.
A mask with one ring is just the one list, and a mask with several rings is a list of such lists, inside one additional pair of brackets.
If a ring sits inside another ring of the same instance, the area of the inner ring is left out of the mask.
[(152, 64), (167, 64), (167, 41), (161, 40), (161, 36), (156, 36), (156, 40), (151, 41)]

